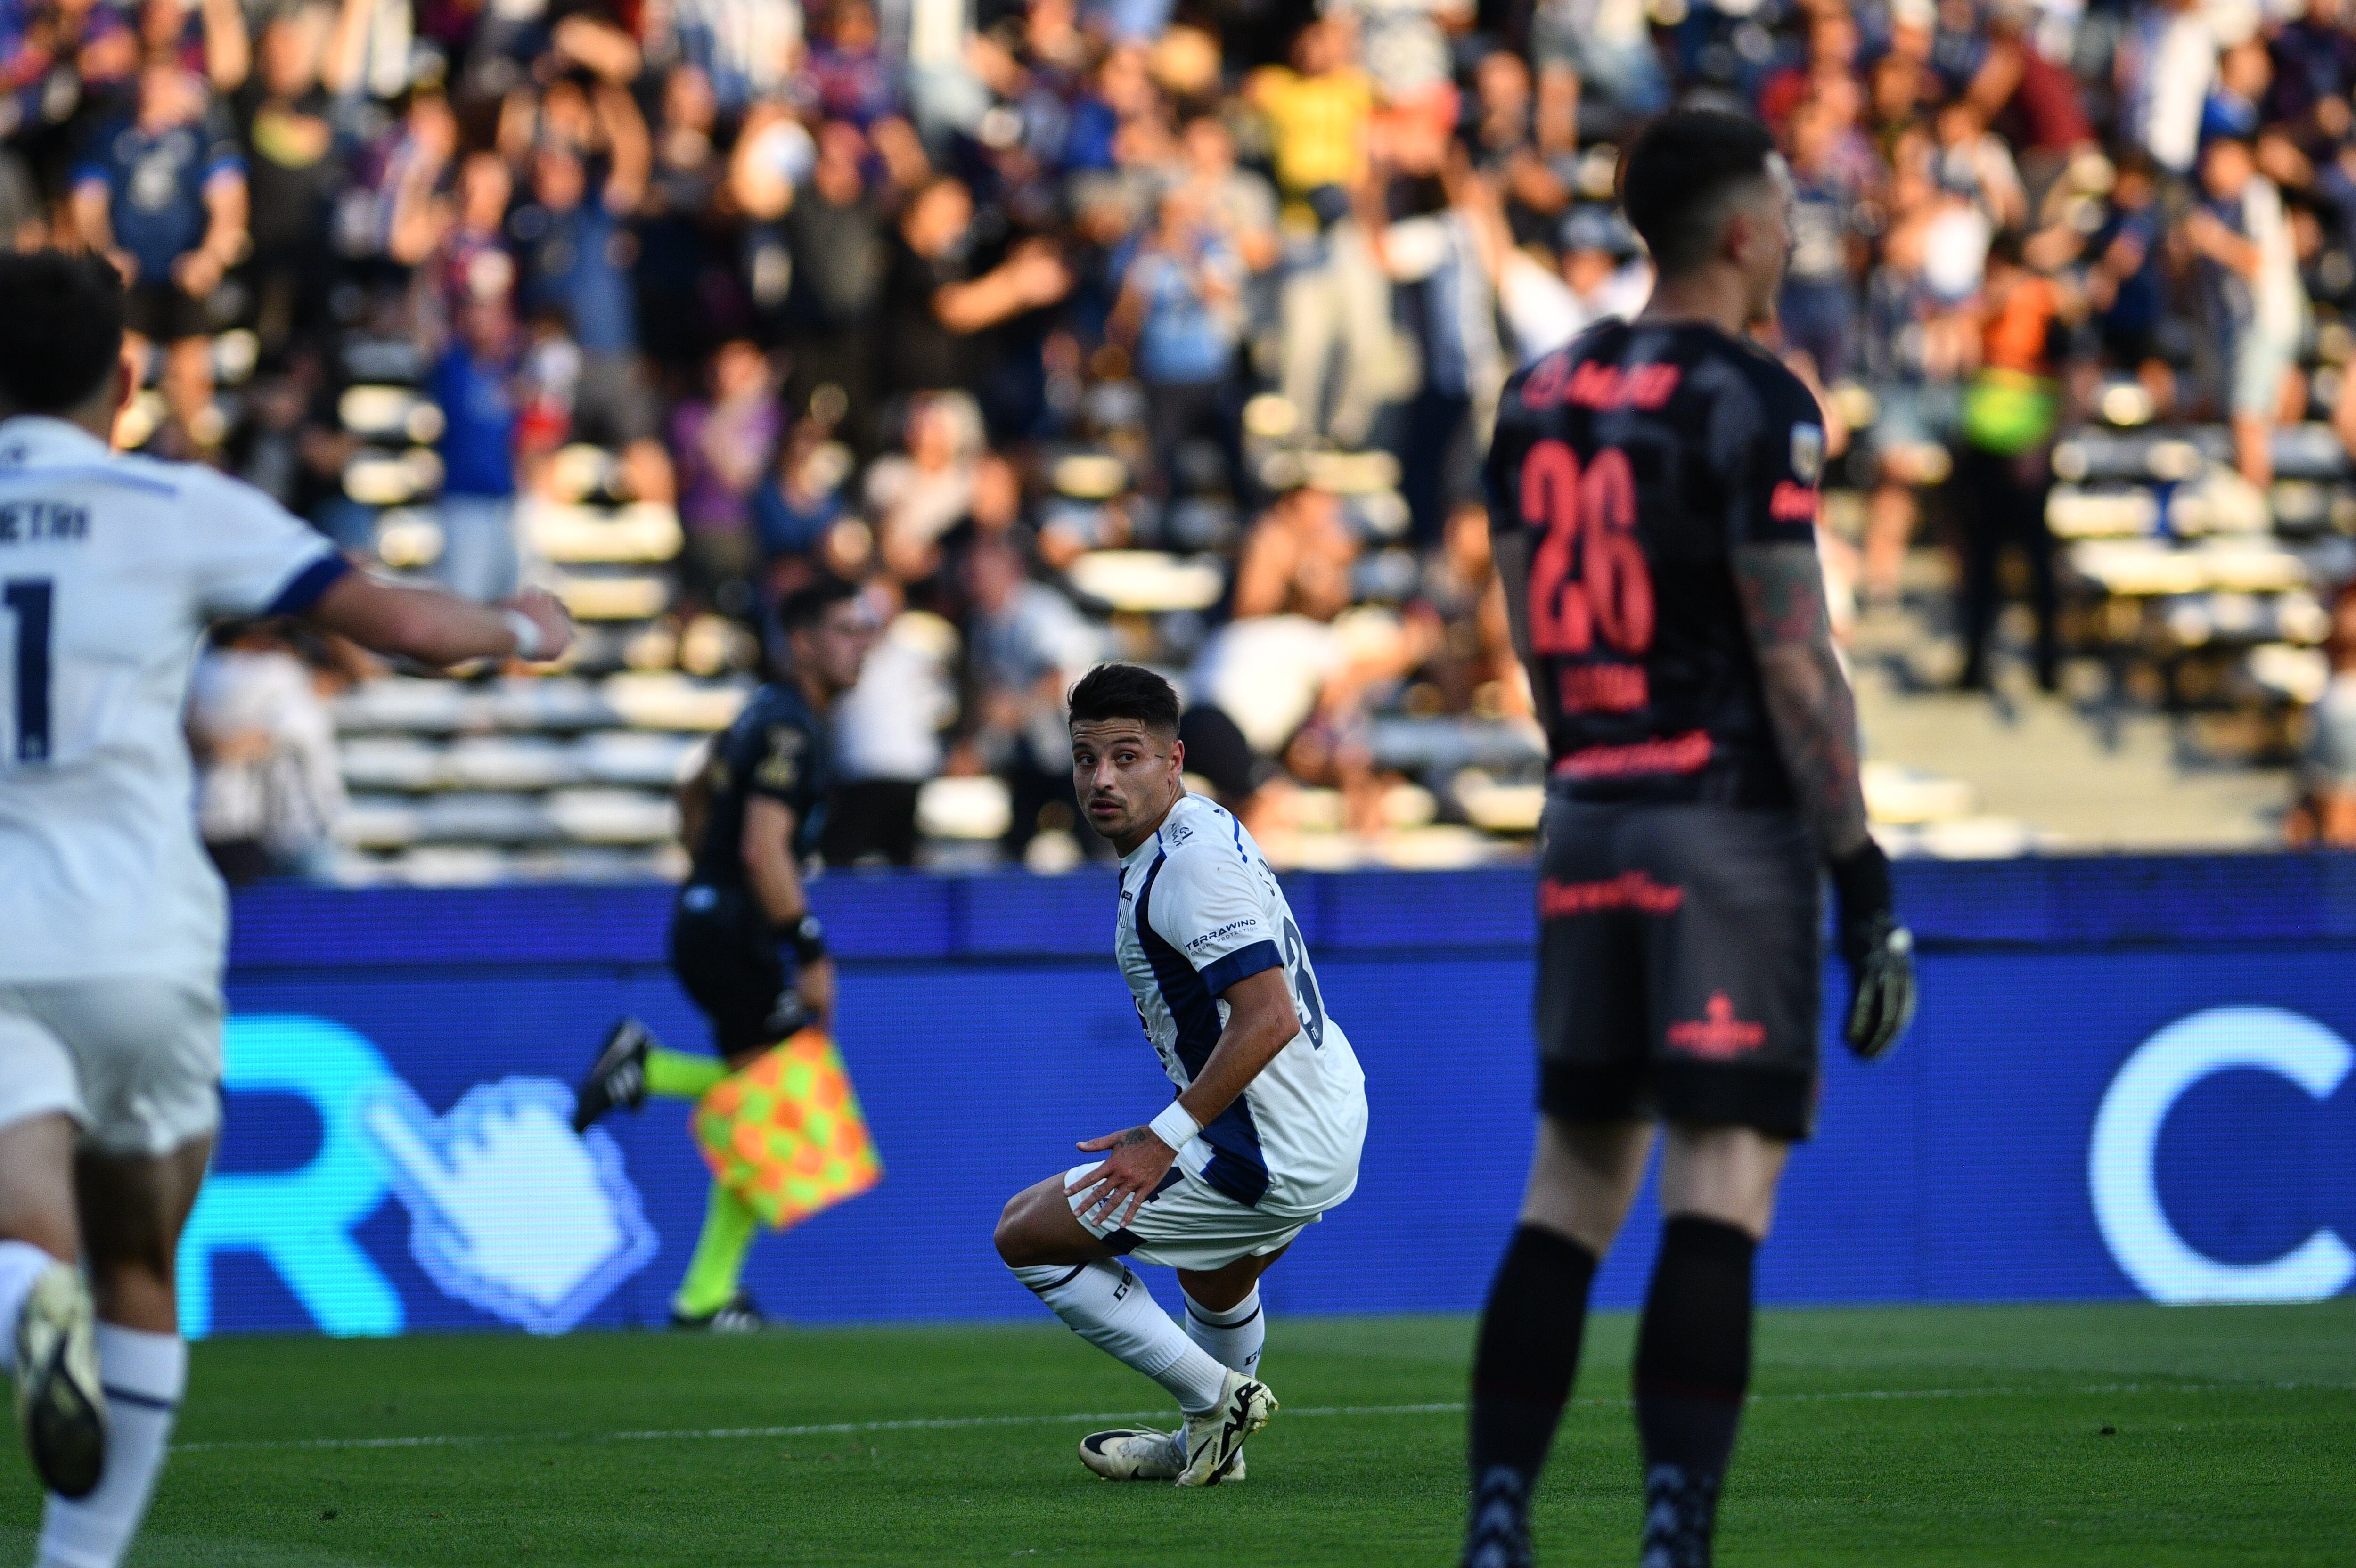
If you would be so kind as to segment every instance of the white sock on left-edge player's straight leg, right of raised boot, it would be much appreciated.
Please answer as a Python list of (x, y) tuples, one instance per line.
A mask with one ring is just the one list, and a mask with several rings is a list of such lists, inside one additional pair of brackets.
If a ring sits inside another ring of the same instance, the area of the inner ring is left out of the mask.
[(106, 1384), (106, 1476), (99, 1490), (73, 1502), (49, 1493), (38, 1568), (115, 1568), (130, 1552), (188, 1387), (188, 1347), (179, 1335), (99, 1323), (99, 1380)]

